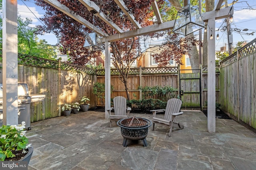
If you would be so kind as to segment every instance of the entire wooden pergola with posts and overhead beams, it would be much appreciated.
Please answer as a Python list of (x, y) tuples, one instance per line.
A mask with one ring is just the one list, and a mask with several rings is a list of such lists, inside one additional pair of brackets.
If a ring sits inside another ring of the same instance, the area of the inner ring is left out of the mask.
[[(85, 20), (79, 15), (74, 14), (68, 7), (61, 4), (58, 0), (44, 0), (51, 6), (54, 6), (64, 14), (85, 25), (94, 32), (101, 35), (102, 42), (105, 43), (105, 106), (110, 107), (110, 42), (118, 41), (139, 35), (147, 35), (149, 33), (156, 33), (172, 29), (174, 20), (163, 22), (160, 16), (156, 0), (152, 0), (151, 5), (157, 19), (157, 24), (147, 27), (141, 27), (140, 23), (135, 20), (134, 16), (127, 10), (126, 4), (123, 0), (114, 0), (116, 5), (126, 14), (132, 24), (136, 27), (131, 31), (123, 31), (113, 21), (108, 20), (100, 8), (90, 0), (79, 0), (86, 8), (96, 12), (102, 21), (116, 30), (114, 35), (106, 35), (104, 31), (99, 28), (94, 28), (94, 25)], [(231, 7), (220, 9), (224, 0), (217, 0), (216, 6), (213, 11), (202, 13), (204, 22), (208, 22), (208, 27), (215, 30), (215, 20), (226, 18), (233, 14)], [(184, 6), (188, 4), (184, 0)], [(135, 7), (136, 8), (136, 7)], [(210, 35), (215, 37), (215, 31), (208, 31)], [(199, 61), (198, 61), (199, 62)], [(17, 1), (16, 0), (3, 0), (3, 124), (18, 124), (18, 33), (17, 33)], [(208, 41), (208, 132), (214, 133), (215, 122), (215, 39)], [(105, 118), (108, 118), (106, 111)]]

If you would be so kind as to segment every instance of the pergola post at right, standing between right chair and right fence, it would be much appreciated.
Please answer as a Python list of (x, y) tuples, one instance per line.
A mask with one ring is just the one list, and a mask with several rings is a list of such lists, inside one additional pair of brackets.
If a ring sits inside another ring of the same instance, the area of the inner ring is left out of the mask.
[[(210, 39), (209, 37), (215, 37), (215, 18), (208, 20), (208, 88), (207, 88), (207, 127), (209, 133), (215, 133), (216, 128), (216, 88), (215, 88), (215, 38)], [(212, 31), (211, 31), (212, 30)]]

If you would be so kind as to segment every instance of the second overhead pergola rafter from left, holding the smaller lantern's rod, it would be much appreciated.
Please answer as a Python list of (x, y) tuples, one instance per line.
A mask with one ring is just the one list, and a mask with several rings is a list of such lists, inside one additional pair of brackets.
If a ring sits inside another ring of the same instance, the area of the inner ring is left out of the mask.
[(116, 30), (116, 32), (118, 33), (122, 33), (124, 32), (120, 27), (118, 27), (118, 25), (116, 25), (113, 21), (110, 21), (107, 19), (107, 16), (100, 12), (100, 7), (98, 7), (97, 4), (95, 4), (94, 2), (90, 1), (90, 0), (79, 0), (79, 2), (81, 2), (89, 11), (91, 10), (95, 10), (97, 13), (94, 14), (96, 16), (98, 16), (102, 21), (104, 21), (106, 24), (108, 24), (111, 28), (113, 28), (114, 30)]

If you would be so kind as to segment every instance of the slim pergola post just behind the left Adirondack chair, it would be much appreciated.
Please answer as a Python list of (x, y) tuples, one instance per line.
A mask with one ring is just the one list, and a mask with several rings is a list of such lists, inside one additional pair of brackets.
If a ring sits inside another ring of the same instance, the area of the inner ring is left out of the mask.
[(105, 42), (105, 119), (109, 118), (108, 111), (110, 108), (110, 43)]

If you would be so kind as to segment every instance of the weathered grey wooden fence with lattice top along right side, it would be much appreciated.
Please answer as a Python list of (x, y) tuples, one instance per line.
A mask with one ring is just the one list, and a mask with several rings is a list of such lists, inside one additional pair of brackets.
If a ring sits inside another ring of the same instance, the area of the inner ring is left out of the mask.
[(220, 62), (222, 110), (256, 129), (256, 39)]

